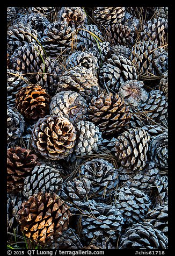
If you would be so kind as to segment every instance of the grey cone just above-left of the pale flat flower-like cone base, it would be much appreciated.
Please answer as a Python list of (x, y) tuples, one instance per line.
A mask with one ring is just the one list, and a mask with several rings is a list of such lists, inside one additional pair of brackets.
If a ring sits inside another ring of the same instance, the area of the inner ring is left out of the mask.
[(103, 63), (99, 72), (101, 87), (110, 88), (115, 93), (122, 83), (128, 80), (137, 80), (137, 71), (133, 63), (121, 55), (111, 55), (111, 58)]

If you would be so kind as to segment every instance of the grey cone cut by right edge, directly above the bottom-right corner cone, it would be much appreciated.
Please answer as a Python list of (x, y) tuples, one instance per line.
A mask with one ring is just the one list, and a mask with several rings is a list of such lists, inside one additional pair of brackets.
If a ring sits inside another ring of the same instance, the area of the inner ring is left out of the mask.
[(167, 203), (162, 206), (149, 209), (147, 216), (144, 219), (154, 226), (154, 229), (162, 231), (165, 236), (168, 234), (168, 205)]

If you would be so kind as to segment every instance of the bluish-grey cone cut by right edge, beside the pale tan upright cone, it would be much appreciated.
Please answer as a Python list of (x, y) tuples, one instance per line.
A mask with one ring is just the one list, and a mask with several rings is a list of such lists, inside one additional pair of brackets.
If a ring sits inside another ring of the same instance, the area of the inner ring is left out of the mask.
[(152, 138), (149, 145), (150, 159), (159, 169), (168, 169), (168, 134), (163, 132)]

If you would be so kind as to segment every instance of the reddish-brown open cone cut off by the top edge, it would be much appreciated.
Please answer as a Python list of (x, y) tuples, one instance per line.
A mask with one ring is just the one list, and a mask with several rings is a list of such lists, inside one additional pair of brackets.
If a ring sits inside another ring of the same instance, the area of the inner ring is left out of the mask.
[(87, 23), (86, 14), (81, 7), (62, 7), (57, 14), (57, 20), (67, 22), (76, 29)]

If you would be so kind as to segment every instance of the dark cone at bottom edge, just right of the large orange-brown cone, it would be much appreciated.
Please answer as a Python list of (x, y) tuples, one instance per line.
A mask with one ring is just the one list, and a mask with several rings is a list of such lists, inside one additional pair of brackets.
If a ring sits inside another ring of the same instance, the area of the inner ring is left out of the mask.
[(65, 230), (60, 237), (58, 237), (49, 249), (60, 250), (76, 250), (82, 248), (81, 238), (76, 233), (76, 230), (71, 227)]

